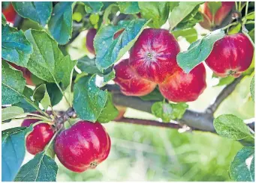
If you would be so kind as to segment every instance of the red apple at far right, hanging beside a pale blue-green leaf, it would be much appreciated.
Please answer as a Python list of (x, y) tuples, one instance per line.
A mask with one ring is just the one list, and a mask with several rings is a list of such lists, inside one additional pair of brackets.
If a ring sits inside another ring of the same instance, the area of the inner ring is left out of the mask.
[(215, 42), (206, 64), (222, 78), (237, 78), (251, 65), (253, 53), (254, 47), (245, 34), (227, 35)]

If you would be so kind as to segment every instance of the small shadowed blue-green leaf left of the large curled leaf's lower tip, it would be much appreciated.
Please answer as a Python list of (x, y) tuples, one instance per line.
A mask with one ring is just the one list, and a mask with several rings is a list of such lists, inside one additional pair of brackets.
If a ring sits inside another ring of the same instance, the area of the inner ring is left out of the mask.
[(77, 60), (77, 67), (82, 71), (88, 74), (100, 73), (99, 69), (96, 66), (95, 58), (91, 59), (87, 56)]

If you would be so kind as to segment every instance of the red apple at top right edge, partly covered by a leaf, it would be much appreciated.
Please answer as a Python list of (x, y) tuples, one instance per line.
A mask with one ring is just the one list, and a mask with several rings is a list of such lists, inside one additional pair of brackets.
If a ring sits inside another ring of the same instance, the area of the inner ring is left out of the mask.
[(222, 1), (221, 3), (221, 7), (217, 10), (214, 17), (212, 16), (211, 11), (209, 10), (208, 2), (202, 4), (200, 12), (203, 15), (203, 22), (200, 22), (200, 25), (203, 28), (211, 30), (212, 28), (221, 25), (221, 23), (226, 18), (228, 13), (230, 13), (235, 4), (234, 1)]

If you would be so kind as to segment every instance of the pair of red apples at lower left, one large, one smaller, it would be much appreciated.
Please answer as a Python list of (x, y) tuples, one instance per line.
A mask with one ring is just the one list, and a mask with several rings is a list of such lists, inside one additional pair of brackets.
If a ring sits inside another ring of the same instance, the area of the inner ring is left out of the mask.
[[(40, 115), (38, 112), (34, 114)], [(34, 126), (26, 137), (26, 149), (32, 155), (36, 155), (44, 151), (50, 143), (56, 133), (56, 127), (34, 119), (26, 119), (22, 123), (24, 127), (29, 125)], [(110, 136), (101, 123), (81, 120), (57, 134), (54, 152), (65, 167), (81, 173), (94, 169), (104, 161), (110, 153), (110, 146)]]

